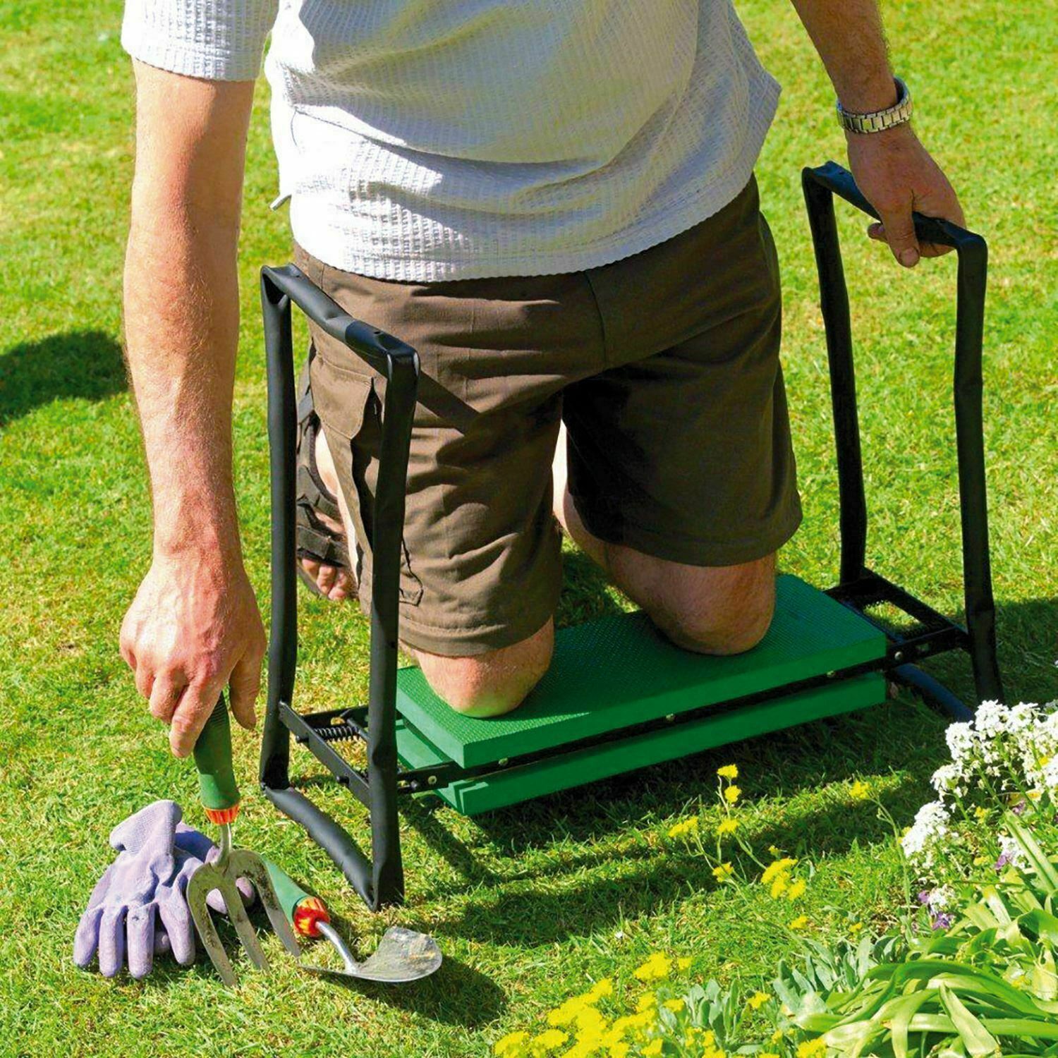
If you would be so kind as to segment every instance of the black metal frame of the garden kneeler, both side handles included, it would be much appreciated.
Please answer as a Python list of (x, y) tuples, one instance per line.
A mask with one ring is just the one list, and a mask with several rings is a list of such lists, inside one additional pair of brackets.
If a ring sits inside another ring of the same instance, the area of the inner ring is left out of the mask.
[[(915, 662), (945, 651), (969, 653), (979, 700), (1002, 698), (996, 659), (995, 605), (988, 560), (984, 443), (981, 407), (981, 359), (987, 248), (984, 240), (945, 221), (915, 216), (920, 239), (954, 247), (959, 255), (959, 305), (955, 329), (955, 425), (962, 511), (967, 626), (963, 627), (902, 588), (868, 569), (867, 500), (859, 443), (856, 382), (853, 368), (849, 297), (834, 217), (835, 194), (874, 215), (852, 177), (833, 162), (803, 171), (805, 201), (816, 248), (834, 404), (840, 494), (841, 573), (828, 594), (872, 620), (869, 607), (888, 602), (913, 618), (911, 633), (883, 627), (884, 657), (868, 664), (801, 680), (771, 692), (689, 710), (576, 743), (525, 754), (497, 764), (463, 768), (446, 763), (404, 768), (397, 758), (397, 635), (404, 493), (419, 362), (414, 349), (398, 339), (353, 320), (293, 264), (261, 269), (261, 304), (268, 353), (269, 441), (272, 475), (272, 635), (269, 645), (268, 707), (261, 744), (260, 782), (266, 797), (309, 836), (363, 897), (371, 910), (400, 902), (404, 892), (398, 799), (438, 789), (459, 779), (521, 767), (589, 746), (633, 741), (642, 733), (703, 715), (744, 709), (760, 701), (800, 693), (813, 687), (883, 671), (914, 688), (952, 715), (970, 710)], [(294, 542), (296, 399), (291, 338), (291, 303), (328, 334), (386, 379), (382, 414), (376, 513), (371, 540), (370, 685), (366, 707), (355, 706), (300, 715), (294, 711), (297, 664), (297, 597)], [(877, 623), (877, 622), (875, 622)], [(879, 625), (880, 626), (880, 625)], [(368, 809), (370, 859), (346, 831), (290, 785), (290, 737), (316, 759)], [(367, 767), (351, 765), (333, 743), (358, 740), (366, 746)]]

